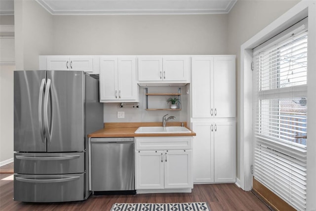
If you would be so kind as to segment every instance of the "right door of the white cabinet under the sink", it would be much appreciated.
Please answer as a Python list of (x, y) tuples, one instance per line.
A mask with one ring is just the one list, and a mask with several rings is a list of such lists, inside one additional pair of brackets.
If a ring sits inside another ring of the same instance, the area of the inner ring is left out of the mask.
[(193, 188), (192, 151), (164, 151), (164, 187)]

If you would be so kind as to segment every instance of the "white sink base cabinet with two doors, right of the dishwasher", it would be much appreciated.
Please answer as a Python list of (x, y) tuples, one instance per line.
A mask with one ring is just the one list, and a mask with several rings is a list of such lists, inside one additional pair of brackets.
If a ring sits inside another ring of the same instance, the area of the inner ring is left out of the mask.
[(135, 141), (136, 190), (191, 191), (192, 137), (136, 137)]

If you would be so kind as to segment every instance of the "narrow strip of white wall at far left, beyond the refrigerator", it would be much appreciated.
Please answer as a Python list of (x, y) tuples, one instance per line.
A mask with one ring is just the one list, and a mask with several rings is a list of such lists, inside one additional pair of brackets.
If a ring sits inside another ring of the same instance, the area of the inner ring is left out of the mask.
[[(13, 158), (14, 16), (0, 18), (0, 166)], [(3, 31), (2, 31), (3, 30)]]

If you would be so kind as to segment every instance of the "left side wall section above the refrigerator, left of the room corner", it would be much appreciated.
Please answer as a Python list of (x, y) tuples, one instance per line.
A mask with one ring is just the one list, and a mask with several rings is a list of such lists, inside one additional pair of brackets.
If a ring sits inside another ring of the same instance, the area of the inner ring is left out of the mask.
[(39, 68), (39, 55), (53, 49), (53, 16), (35, 0), (14, 0), (17, 70)]

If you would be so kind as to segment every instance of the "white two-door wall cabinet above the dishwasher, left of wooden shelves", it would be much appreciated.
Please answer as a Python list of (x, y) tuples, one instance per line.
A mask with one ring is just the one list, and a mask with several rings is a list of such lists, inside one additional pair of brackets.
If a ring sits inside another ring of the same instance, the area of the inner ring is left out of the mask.
[(137, 102), (133, 56), (100, 57), (100, 102)]

